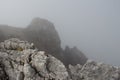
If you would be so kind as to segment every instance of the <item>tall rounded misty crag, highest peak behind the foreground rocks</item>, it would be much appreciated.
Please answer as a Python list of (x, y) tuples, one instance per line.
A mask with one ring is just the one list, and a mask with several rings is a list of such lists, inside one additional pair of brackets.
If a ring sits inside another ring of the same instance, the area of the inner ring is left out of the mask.
[(56, 53), (60, 54), (61, 41), (53, 23), (48, 20), (35, 18), (24, 30), (24, 33), (26, 40), (33, 42), (38, 49), (59, 57)]

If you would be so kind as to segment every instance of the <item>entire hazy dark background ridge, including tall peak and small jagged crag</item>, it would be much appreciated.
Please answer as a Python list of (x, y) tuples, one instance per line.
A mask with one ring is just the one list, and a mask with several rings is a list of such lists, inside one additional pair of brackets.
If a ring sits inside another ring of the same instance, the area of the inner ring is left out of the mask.
[(39, 50), (46, 51), (46, 53), (55, 56), (65, 65), (84, 64), (87, 61), (83, 53), (75, 48), (69, 51), (62, 50), (58, 32), (53, 23), (45, 19), (35, 18), (26, 28), (1, 25), (0, 42), (9, 38), (19, 38), (34, 43)]

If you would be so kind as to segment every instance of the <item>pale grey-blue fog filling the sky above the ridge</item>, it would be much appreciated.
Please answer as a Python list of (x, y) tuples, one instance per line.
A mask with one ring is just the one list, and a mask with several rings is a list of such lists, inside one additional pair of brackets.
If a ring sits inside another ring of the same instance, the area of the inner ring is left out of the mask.
[(0, 0), (0, 24), (26, 27), (34, 17), (54, 23), (63, 47), (120, 65), (120, 0)]

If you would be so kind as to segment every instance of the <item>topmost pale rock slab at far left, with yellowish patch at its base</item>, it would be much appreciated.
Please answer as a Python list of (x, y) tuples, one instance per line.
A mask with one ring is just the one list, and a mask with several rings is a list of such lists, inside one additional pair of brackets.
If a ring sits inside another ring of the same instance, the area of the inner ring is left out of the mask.
[(17, 38), (12, 38), (9, 40), (5, 40), (4, 42), (0, 43), (0, 49), (7, 49), (7, 50), (24, 50), (33, 48), (33, 44), (29, 44), (27, 41), (20, 41)]

